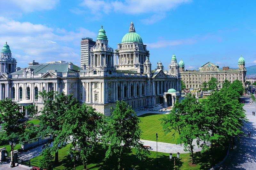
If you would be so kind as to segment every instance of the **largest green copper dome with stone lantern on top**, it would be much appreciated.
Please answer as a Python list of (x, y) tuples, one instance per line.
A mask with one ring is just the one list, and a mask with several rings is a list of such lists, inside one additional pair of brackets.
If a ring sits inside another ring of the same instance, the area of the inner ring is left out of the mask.
[(139, 34), (135, 33), (135, 28), (131, 22), (129, 33), (126, 33), (122, 39), (122, 43), (139, 42), (143, 43), (142, 38)]

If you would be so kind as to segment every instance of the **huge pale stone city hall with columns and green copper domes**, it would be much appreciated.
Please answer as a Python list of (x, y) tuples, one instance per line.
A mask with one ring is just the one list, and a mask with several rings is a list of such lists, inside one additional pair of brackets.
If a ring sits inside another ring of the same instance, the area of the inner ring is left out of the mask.
[(133, 23), (117, 46), (115, 50), (108, 46), (106, 32), (101, 27), (90, 49), (88, 67), (63, 61), (44, 64), (33, 61), (26, 68), (1, 72), (0, 100), (8, 97), (22, 106), (33, 104), (40, 110), (43, 103), (38, 92), (53, 90), (72, 94), (81, 103), (109, 116), (116, 100), (140, 110), (164, 104), (164, 92), (168, 89), (181, 92), (176, 57), (172, 56), (169, 73), (164, 67), (151, 70), (149, 51), (135, 33)]

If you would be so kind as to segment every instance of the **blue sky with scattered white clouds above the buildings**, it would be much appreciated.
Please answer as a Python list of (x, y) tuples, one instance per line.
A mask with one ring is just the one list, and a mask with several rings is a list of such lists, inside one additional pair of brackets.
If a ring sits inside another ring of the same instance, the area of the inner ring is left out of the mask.
[(256, 1), (234, 0), (0, 0), (0, 48), (7, 44), (17, 67), (66, 61), (80, 66), (80, 41), (94, 41), (103, 26), (114, 49), (131, 21), (152, 69), (168, 70), (172, 55), (185, 70), (211, 62), (220, 68), (256, 65)]

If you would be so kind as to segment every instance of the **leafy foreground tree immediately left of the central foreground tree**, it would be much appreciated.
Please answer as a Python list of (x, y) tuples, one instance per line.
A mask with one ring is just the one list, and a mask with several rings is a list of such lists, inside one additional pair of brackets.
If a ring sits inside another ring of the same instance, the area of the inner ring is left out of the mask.
[(81, 106), (77, 103), (67, 110), (64, 120), (57, 140), (61, 141), (66, 138), (67, 142), (71, 142), (69, 152), (74, 152), (72, 148), (78, 149), (84, 169), (86, 169), (88, 157), (92, 155), (100, 138), (99, 133), (104, 128), (105, 116), (95, 112), (91, 106), (85, 104)]

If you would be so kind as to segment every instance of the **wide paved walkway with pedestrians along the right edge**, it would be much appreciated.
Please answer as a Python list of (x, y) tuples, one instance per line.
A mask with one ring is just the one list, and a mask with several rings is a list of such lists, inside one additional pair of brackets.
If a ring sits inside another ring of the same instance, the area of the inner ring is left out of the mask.
[(250, 105), (249, 96), (244, 96), (245, 100), (244, 110), (246, 117), (249, 119), (245, 123), (243, 131), (248, 134), (251, 131), (251, 138), (242, 136), (240, 139), (235, 139), (234, 150), (229, 151), (229, 155), (224, 163), (216, 169), (221, 170), (256, 170), (256, 104)]

